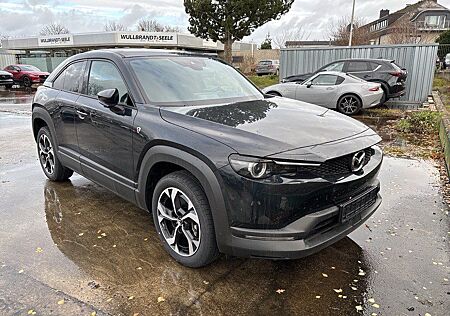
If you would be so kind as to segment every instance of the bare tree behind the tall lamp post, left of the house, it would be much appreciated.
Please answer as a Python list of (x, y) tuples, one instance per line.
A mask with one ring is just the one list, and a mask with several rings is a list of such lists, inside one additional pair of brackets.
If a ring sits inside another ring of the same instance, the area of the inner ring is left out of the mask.
[[(350, 21), (350, 18), (343, 17), (330, 24), (329, 33), (334, 45), (348, 45), (350, 40)], [(367, 45), (370, 43), (370, 32), (367, 27), (362, 27), (364, 24), (364, 19), (355, 18), (353, 22), (353, 45)]]

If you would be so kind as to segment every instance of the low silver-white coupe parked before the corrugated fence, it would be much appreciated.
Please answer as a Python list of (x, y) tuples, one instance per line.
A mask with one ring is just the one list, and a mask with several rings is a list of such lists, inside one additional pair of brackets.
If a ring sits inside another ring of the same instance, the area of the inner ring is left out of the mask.
[(320, 72), (303, 83), (276, 84), (265, 88), (263, 92), (337, 109), (347, 115), (377, 106), (383, 97), (379, 83), (336, 71)]

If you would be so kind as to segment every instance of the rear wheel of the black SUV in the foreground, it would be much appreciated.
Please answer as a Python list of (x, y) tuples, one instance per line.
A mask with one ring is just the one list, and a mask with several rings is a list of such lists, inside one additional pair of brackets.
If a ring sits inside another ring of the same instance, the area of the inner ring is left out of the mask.
[(64, 167), (55, 154), (55, 143), (48, 127), (42, 127), (37, 135), (37, 150), (42, 171), (51, 181), (67, 181), (73, 171)]

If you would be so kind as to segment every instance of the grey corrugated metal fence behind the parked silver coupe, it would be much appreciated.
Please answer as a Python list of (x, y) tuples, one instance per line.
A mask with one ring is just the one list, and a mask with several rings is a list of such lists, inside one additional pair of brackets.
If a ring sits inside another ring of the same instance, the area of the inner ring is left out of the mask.
[(338, 59), (394, 59), (408, 70), (404, 101), (423, 102), (431, 93), (436, 68), (438, 44), (355, 46), (327, 48), (287, 48), (281, 51), (281, 78), (314, 72)]

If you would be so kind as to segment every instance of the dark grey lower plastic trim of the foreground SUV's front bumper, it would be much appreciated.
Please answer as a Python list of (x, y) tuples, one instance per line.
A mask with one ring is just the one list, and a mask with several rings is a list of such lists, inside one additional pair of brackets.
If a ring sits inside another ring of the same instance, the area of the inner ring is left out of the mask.
[(381, 196), (378, 194), (375, 204), (349, 222), (336, 223), (313, 234), (308, 234), (308, 231), (317, 223), (339, 217), (337, 206), (309, 214), (280, 230), (232, 228), (233, 255), (265, 259), (298, 259), (312, 255), (361, 226), (375, 213), (381, 201)]

